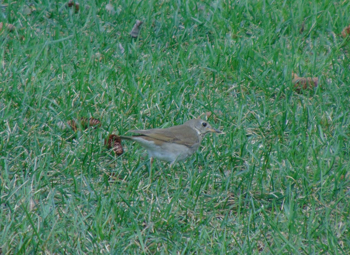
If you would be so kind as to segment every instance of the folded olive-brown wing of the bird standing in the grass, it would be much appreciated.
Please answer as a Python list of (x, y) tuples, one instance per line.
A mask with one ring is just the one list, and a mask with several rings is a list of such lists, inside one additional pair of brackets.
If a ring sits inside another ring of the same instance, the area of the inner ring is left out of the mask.
[(182, 144), (188, 147), (200, 142), (197, 132), (186, 125), (168, 127), (166, 129), (130, 130), (130, 132), (142, 134), (144, 136), (166, 141), (168, 143)]

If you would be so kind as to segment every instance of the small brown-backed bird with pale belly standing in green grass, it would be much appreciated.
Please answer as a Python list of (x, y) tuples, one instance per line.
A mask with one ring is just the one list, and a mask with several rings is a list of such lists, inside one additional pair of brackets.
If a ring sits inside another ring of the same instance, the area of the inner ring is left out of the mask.
[(146, 148), (151, 168), (154, 158), (170, 163), (170, 167), (178, 161), (185, 160), (198, 150), (203, 137), (209, 132), (224, 134), (199, 118), (168, 128), (129, 130), (129, 132), (135, 135), (118, 137), (121, 140), (135, 141)]

